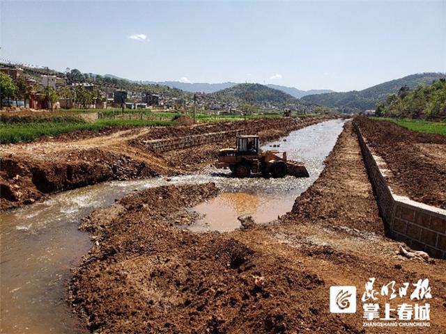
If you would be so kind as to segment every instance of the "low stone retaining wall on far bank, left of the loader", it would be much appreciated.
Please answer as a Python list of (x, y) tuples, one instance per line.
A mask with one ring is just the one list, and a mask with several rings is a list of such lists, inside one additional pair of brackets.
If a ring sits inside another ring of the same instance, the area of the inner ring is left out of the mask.
[(143, 141), (143, 143), (149, 150), (155, 152), (167, 152), (181, 148), (191, 148), (192, 146), (215, 143), (228, 138), (235, 138), (238, 134), (244, 133), (245, 129), (236, 129), (222, 132), (210, 132), (208, 134), (195, 134), (186, 137), (155, 139), (153, 141)]

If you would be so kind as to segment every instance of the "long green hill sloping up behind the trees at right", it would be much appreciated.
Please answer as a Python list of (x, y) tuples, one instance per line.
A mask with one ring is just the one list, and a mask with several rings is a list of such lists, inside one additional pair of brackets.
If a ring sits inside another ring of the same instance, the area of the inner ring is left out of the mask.
[(445, 73), (412, 74), (364, 90), (307, 95), (302, 97), (302, 100), (314, 104), (321, 104), (323, 106), (350, 109), (351, 111), (364, 111), (367, 109), (374, 109), (377, 102), (385, 100), (387, 96), (392, 93), (397, 93), (399, 88), (403, 86), (408, 86), (408, 88), (413, 89), (422, 84), (432, 84), (434, 80), (445, 77)]

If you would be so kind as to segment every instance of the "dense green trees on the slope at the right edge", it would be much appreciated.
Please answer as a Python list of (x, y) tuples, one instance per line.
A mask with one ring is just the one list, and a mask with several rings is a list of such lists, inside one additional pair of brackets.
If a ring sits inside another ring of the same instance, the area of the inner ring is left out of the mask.
[(403, 86), (376, 106), (376, 115), (397, 118), (446, 120), (446, 81), (439, 79), (430, 86), (410, 90)]

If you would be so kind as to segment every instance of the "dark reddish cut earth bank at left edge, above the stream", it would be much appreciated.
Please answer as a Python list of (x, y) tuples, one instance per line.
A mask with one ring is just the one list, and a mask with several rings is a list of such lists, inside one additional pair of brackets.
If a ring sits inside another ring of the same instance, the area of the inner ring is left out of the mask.
[(32, 203), (47, 193), (106, 180), (157, 175), (143, 161), (98, 149), (68, 151), (50, 161), (10, 154), (1, 157), (0, 164), (1, 209)]

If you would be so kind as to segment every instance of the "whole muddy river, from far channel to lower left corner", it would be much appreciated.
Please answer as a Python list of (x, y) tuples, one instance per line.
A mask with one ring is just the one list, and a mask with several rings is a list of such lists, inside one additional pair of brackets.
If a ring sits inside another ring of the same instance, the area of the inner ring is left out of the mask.
[(343, 125), (342, 120), (330, 120), (291, 132), (286, 141), (264, 147), (280, 145), (272, 149), (286, 150), (289, 159), (304, 161), (310, 173), (306, 179), (236, 179), (229, 171), (209, 167), (199, 175), (104, 182), (0, 213), (0, 333), (85, 332), (65, 296), (70, 268), (91, 247), (89, 235), (79, 232), (77, 225), (93, 210), (112, 205), (132, 191), (215, 182), (222, 193), (194, 208), (203, 218), (190, 230), (233, 230), (243, 214), (252, 215), (258, 223), (271, 221), (288, 212), (295, 197), (317, 179)]

